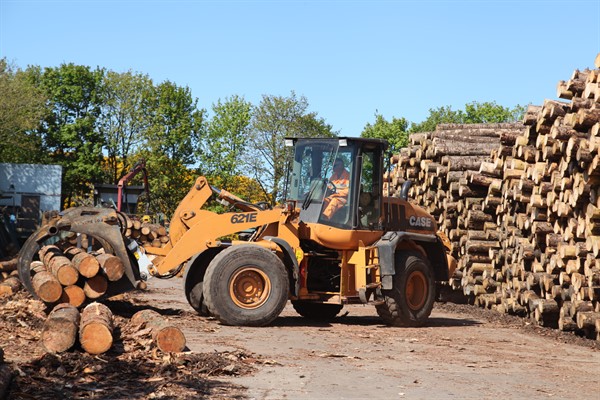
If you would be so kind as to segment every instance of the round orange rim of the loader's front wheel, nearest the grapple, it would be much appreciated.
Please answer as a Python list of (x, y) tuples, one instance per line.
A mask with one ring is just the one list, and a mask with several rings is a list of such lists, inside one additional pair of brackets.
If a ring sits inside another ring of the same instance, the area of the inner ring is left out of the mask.
[(271, 280), (255, 267), (238, 269), (229, 281), (229, 296), (241, 308), (254, 309), (262, 306), (271, 293)]

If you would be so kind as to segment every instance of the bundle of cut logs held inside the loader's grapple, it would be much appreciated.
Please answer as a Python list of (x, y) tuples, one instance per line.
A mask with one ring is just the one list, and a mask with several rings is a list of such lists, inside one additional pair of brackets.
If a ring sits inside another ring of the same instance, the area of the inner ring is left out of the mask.
[(40, 249), (39, 261), (31, 264), (32, 286), (47, 304), (69, 303), (80, 307), (102, 297), (109, 283), (125, 273), (123, 262), (105, 253), (87, 253), (70, 246), (64, 251), (56, 245)]

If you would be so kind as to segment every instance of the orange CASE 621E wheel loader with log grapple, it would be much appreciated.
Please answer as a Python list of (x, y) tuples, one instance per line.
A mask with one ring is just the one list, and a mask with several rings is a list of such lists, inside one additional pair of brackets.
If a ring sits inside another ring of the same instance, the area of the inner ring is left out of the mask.
[[(372, 304), (386, 324), (424, 324), (436, 282), (449, 279), (456, 261), (435, 220), (408, 201), (409, 183), (399, 197), (384, 195), (387, 142), (342, 137), (285, 144), (291, 149), (282, 205), (244, 201), (199, 177), (171, 218), (169, 243), (160, 248), (141, 248), (125, 237), (116, 210), (67, 209), (25, 243), (21, 280), (35, 296), (30, 264), (38, 249), (75, 232), (93, 237), (125, 264), (124, 277), (106, 296), (149, 277), (183, 274), (190, 305), (228, 325), (268, 325), (288, 300), (315, 320), (334, 318), (345, 304)], [(346, 170), (343, 188), (330, 179), (336, 161)], [(203, 209), (213, 196), (230, 211)], [(333, 197), (337, 207), (326, 216)]]

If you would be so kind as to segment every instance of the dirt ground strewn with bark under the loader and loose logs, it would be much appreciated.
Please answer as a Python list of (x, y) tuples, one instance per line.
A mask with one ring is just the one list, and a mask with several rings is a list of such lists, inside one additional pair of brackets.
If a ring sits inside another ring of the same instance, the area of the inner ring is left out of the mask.
[[(25, 295), (0, 302), (0, 347), (17, 371), (8, 398), (600, 398), (599, 342), (474, 306), (436, 303), (422, 328), (386, 327), (357, 305), (331, 323), (288, 305), (272, 326), (229, 327), (198, 316), (179, 278), (107, 304), (115, 345), (92, 357), (44, 354), (43, 307)], [(179, 326), (189, 352), (161, 354), (121, 334), (143, 308)]]

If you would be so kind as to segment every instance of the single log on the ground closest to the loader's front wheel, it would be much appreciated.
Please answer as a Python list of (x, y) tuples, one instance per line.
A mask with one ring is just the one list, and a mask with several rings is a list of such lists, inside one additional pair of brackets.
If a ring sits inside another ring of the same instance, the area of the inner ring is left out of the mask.
[(163, 352), (179, 353), (185, 349), (183, 332), (156, 311), (138, 311), (131, 317), (131, 324), (150, 328), (154, 343)]

